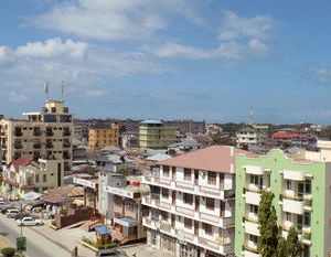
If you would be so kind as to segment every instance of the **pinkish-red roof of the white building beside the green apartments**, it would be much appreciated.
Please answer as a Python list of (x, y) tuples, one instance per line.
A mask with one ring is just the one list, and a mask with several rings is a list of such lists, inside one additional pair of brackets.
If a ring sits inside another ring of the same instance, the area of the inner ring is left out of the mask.
[(258, 156), (235, 147), (213, 146), (160, 161), (159, 164), (222, 173), (234, 173), (235, 156), (238, 153), (249, 157)]

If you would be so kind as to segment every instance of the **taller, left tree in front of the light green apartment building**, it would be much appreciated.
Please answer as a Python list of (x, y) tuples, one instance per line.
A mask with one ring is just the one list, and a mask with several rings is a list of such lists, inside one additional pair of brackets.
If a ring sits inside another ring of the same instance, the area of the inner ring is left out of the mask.
[(277, 257), (279, 228), (273, 200), (274, 194), (264, 191), (258, 206), (258, 229), (260, 236), (257, 242), (257, 250), (263, 257)]

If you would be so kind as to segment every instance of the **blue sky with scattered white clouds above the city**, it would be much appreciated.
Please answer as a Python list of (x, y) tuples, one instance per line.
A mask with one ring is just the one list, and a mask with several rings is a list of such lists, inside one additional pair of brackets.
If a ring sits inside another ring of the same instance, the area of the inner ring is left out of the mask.
[(79, 118), (330, 124), (330, 1), (12, 0), (0, 8), (0, 113), (43, 83)]

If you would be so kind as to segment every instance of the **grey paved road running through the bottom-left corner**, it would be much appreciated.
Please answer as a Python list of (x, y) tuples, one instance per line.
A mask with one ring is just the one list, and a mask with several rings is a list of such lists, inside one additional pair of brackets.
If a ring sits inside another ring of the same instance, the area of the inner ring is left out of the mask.
[[(20, 227), (14, 219), (0, 214), (0, 234), (15, 245), (15, 238), (20, 235)], [(29, 257), (71, 257), (68, 249), (61, 244), (36, 233), (33, 228), (23, 227), (23, 236), (26, 237)]]

